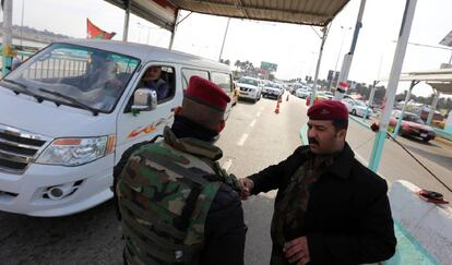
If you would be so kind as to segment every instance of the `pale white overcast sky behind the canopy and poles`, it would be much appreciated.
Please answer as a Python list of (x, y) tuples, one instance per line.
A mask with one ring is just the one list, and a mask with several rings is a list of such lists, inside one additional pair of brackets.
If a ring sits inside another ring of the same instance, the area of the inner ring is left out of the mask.
[[(349, 80), (370, 84), (388, 80), (406, 0), (367, 0), (362, 27), (358, 37)], [(329, 70), (340, 70), (348, 52), (360, 0), (350, 2), (333, 20), (323, 50), (319, 77)], [(71, 37), (86, 37), (86, 17), (122, 39), (124, 12), (103, 0), (13, 0), (13, 24), (47, 29)], [(439, 46), (452, 31), (452, 1), (417, 0), (409, 43)], [(182, 12), (187, 15), (188, 12)], [(191, 14), (178, 27), (174, 49), (218, 60), (227, 17)], [(261, 61), (278, 64), (276, 77), (294, 79), (312, 75), (320, 49), (319, 27), (233, 19), (226, 37), (223, 59)], [(170, 33), (132, 15), (129, 41), (168, 47)], [(448, 62), (452, 50), (408, 45), (402, 72), (439, 69)], [(234, 67), (233, 67), (234, 69)], [(382, 83), (385, 84), (385, 83)], [(399, 85), (397, 93), (408, 83)], [(417, 85), (413, 94), (429, 96), (430, 86)]]

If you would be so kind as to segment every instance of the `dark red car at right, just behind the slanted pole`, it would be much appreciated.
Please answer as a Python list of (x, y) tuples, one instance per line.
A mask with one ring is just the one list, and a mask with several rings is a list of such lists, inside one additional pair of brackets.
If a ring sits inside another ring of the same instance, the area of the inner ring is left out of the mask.
[[(395, 125), (397, 124), (397, 120), (401, 117), (401, 110), (392, 111), (389, 122), (390, 127), (395, 128)], [(412, 112), (404, 113), (399, 134), (403, 136), (409, 135), (420, 137), (426, 143), (430, 140), (433, 140), (437, 136), (431, 127), (426, 125), (419, 116)]]

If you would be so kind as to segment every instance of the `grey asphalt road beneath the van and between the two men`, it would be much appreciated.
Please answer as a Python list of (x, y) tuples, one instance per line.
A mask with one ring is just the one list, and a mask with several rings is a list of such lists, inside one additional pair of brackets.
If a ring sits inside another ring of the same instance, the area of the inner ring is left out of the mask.
[[(261, 99), (257, 104), (240, 101), (234, 107), (217, 142), (225, 154), (221, 165), (229, 172), (239, 178), (249, 176), (285, 159), (300, 144), (298, 132), (307, 121), (305, 100), (294, 96), (288, 101), (284, 98), (279, 115), (274, 112), (275, 107), (276, 101), (271, 99)], [(371, 132), (350, 122), (347, 141), (359, 157), (368, 159), (372, 145)], [(439, 146), (436, 142), (426, 145), (405, 138), (401, 141), (406, 142), (408, 148), (440, 178), (451, 178), (450, 147)], [(401, 167), (401, 164), (408, 168)], [(388, 141), (380, 171), (388, 176), (389, 181), (397, 176), (407, 176), (415, 183), (438, 186), (435, 180), (418, 173), (420, 169), (412, 164), (409, 157)], [(247, 265), (269, 264), (274, 196), (275, 192), (271, 192), (243, 202), (249, 226)], [(0, 213), (0, 242), (2, 264), (122, 264), (121, 228), (111, 202), (59, 218)]]

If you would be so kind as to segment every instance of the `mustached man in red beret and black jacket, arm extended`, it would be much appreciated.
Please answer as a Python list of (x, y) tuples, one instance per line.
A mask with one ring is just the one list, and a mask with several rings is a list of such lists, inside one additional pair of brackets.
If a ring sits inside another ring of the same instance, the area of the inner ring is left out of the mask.
[(336, 100), (308, 110), (309, 146), (240, 179), (242, 198), (278, 189), (271, 265), (364, 264), (388, 260), (396, 240), (386, 182), (345, 142), (348, 111)]

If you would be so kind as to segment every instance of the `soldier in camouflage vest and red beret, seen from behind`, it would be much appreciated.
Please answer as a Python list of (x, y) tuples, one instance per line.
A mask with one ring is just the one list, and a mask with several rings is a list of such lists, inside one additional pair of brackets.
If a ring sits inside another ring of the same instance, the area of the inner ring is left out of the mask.
[(243, 264), (238, 183), (213, 145), (229, 100), (191, 77), (171, 129), (131, 155), (116, 188), (127, 264)]

